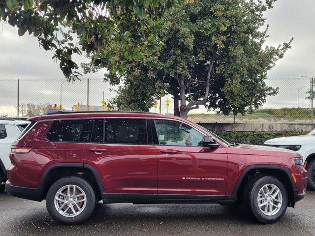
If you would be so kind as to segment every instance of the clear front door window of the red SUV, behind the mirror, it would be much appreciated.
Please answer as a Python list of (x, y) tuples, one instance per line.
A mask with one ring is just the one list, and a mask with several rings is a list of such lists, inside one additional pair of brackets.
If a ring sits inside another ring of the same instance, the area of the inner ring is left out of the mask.
[(202, 146), (204, 135), (187, 124), (175, 120), (154, 120), (160, 145)]

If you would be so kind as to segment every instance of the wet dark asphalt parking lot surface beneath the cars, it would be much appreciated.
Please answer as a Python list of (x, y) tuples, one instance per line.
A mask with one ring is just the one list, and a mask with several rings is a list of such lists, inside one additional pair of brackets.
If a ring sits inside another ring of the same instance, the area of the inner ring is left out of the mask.
[(45, 201), (11, 197), (1, 185), (0, 235), (308, 236), (315, 235), (315, 192), (309, 191), (295, 209), (287, 208), (284, 217), (272, 225), (257, 223), (237, 206), (98, 203), (88, 221), (64, 226), (50, 218)]

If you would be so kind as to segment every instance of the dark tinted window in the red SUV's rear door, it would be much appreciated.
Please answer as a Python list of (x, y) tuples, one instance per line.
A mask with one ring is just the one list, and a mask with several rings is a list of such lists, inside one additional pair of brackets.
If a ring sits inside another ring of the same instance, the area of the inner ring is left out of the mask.
[(148, 144), (146, 119), (106, 119), (105, 143)]

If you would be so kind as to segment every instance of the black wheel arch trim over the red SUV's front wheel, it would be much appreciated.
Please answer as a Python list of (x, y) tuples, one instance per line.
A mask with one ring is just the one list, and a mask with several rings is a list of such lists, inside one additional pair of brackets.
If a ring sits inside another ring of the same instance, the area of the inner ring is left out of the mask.
[(231, 199), (240, 200), (241, 193), (244, 190), (246, 184), (252, 177), (257, 175), (270, 175), (279, 178), (285, 185), (287, 189), (287, 194), (289, 197), (288, 205), (289, 207), (294, 207), (294, 194), (297, 191), (296, 184), (290, 171), (283, 167), (277, 165), (251, 165), (248, 166), (238, 178), (236, 185), (233, 189)]

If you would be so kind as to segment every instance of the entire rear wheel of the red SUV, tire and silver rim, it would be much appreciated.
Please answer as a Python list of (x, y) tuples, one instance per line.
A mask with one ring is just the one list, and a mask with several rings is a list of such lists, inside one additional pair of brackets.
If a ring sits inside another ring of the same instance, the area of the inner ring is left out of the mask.
[(66, 225), (85, 221), (96, 204), (91, 184), (80, 177), (64, 177), (48, 190), (46, 207), (51, 217)]

